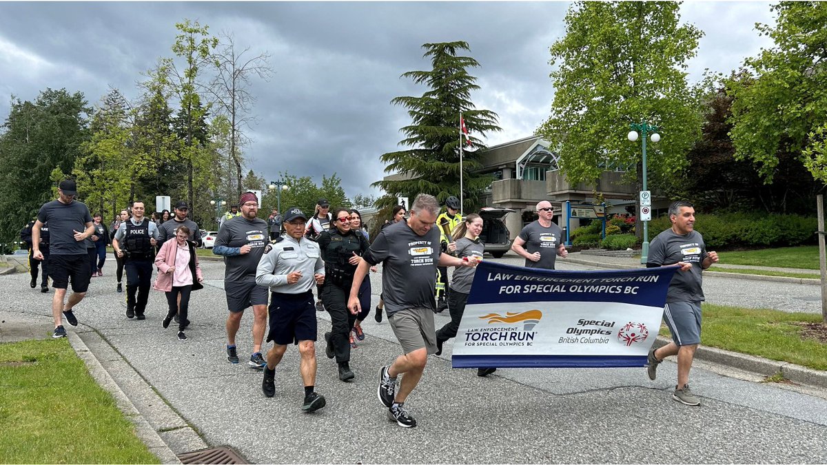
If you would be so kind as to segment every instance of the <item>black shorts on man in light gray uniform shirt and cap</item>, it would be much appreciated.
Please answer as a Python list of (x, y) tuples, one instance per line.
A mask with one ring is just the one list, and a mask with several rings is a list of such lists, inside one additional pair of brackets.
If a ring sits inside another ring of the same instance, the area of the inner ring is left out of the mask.
[(274, 292), (270, 299), (270, 332), (267, 342), (280, 346), (317, 337), (316, 305), (309, 290), (301, 294)]

